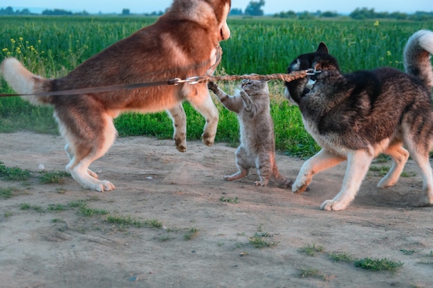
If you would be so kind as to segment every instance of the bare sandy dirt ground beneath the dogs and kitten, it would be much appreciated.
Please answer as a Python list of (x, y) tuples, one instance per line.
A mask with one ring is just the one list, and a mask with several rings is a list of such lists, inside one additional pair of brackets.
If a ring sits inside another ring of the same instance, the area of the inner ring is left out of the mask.
[[(0, 134), (0, 161), (63, 171), (63, 146), (53, 135)], [(0, 198), (0, 287), (432, 287), (433, 211), (413, 207), (422, 186), (413, 162), (405, 171), (416, 175), (381, 190), (380, 177), (370, 172), (346, 211), (326, 212), (320, 204), (339, 191), (344, 164), (316, 175), (310, 191), (293, 195), (253, 186), (255, 173), (224, 181), (222, 175), (237, 170), (234, 150), (189, 142), (179, 153), (172, 140), (127, 137), (91, 166), (115, 191), (85, 190), (71, 178), (63, 184), (41, 184), (37, 177), (1, 181), (0, 187), (18, 192)], [(278, 155), (277, 162), (294, 179), (303, 161)], [(47, 209), (77, 200), (112, 215), (156, 219), (163, 227)], [(21, 204), (46, 211), (22, 210)], [(191, 229), (198, 233), (187, 240)], [(274, 245), (256, 248), (250, 243), (255, 235)], [(324, 251), (300, 251), (313, 245)], [(403, 266), (394, 273), (369, 271), (331, 260), (337, 252)]]

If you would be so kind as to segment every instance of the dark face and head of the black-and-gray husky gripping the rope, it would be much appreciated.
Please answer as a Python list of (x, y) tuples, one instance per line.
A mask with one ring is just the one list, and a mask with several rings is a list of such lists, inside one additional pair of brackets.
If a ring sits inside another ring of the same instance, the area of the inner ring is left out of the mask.
[[(328, 48), (321, 42), (315, 52), (302, 54), (298, 56), (288, 66), (287, 73), (299, 70), (333, 70), (338, 68), (338, 63), (334, 57), (329, 55)], [(305, 77), (297, 79), (291, 82), (285, 82), (286, 89), (284, 90), (284, 96), (295, 105), (299, 105), (299, 102), (306, 93), (309, 92), (306, 89), (308, 81), (311, 81), (311, 77)]]

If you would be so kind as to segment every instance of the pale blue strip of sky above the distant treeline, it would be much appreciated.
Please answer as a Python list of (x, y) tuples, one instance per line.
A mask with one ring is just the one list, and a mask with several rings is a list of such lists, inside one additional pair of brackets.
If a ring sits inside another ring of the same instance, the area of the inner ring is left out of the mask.
[[(232, 0), (232, 8), (245, 10), (251, 0)], [(255, 0), (258, 1), (258, 0)], [(124, 8), (131, 13), (141, 14), (165, 11), (172, 0), (0, 0), (0, 8), (12, 6), (14, 10), (28, 8), (31, 12), (40, 13), (45, 9), (62, 9), (72, 12), (86, 10), (91, 14), (116, 13), (120, 14)], [(416, 11), (432, 12), (432, 0), (309, 0), (309, 1), (284, 1), (265, 0), (263, 7), (265, 15), (273, 15), (277, 12), (293, 10), (295, 12), (315, 12), (317, 10), (333, 11), (340, 14), (349, 14), (356, 8), (374, 8), (376, 12), (403, 12)]]

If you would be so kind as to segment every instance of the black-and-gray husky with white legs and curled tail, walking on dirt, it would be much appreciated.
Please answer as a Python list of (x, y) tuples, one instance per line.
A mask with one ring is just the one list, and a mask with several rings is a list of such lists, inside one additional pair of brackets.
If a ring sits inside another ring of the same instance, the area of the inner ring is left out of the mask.
[(406, 73), (377, 68), (342, 74), (324, 43), (290, 64), (289, 73), (317, 70), (315, 75), (286, 82), (284, 95), (299, 106), (306, 130), (322, 147), (302, 165), (292, 186), (293, 193), (304, 192), (315, 173), (347, 160), (340, 192), (320, 207), (346, 209), (374, 157), (384, 153), (394, 161), (378, 183), (378, 187), (387, 188), (398, 181), (410, 153), (423, 176), (423, 196), (418, 206), (433, 204), (429, 162), (433, 146), (430, 53), (433, 53), (433, 32), (419, 30), (405, 46)]

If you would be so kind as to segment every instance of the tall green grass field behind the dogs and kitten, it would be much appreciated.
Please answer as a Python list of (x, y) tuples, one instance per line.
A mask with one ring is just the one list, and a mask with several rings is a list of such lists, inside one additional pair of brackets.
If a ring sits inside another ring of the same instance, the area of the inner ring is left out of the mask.
[[(17, 57), (33, 73), (62, 77), (75, 66), (132, 32), (154, 23), (151, 17), (0, 17), (0, 61)], [(216, 75), (285, 73), (288, 64), (324, 41), (340, 61), (343, 72), (391, 66), (403, 70), (403, 48), (419, 29), (433, 29), (433, 22), (284, 20), (229, 18), (232, 36), (221, 42), (223, 57)], [(125, 54), (128, 51), (125, 50)], [(234, 93), (236, 81), (218, 83)], [(1, 80), (0, 93), (12, 93)], [(297, 107), (283, 97), (282, 81), (270, 82), (271, 113), (276, 148), (288, 155), (307, 157), (319, 147), (306, 133)], [(67, 97), (67, 96), (64, 96)], [(239, 143), (234, 113), (214, 100), (220, 122), (217, 142)], [(199, 140), (204, 119), (187, 103), (187, 139)], [(50, 107), (30, 106), (20, 97), (0, 98), (0, 133), (36, 131), (58, 133)], [(171, 119), (165, 114), (126, 113), (115, 120), (120, 137), (151, 135), (171, 138)], [(1, 137), (1, 136), (0, 136)]]

